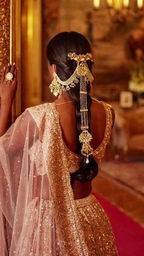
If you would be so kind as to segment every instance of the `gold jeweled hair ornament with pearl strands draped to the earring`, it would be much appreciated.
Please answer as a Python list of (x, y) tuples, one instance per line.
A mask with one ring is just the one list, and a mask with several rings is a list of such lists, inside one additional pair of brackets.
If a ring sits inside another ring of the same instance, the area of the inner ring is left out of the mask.
[(54, 79), (50, 84), (49, 88), (51, 92), (57, 97), (61, 95), (62, 91), (70, 90), (80, 82), (80, 104), (81, 104), (81, 134), (79, 135), (79, 141), (82, 143), (81, 153), (86, 157), (86, 163), (89, 163), (88, 157), (92, 155), (93, 148), (90, 145), (92, 141), (92, 135), (88, 132), (88, 108), (87, 108), (87, 83), (93, 81), (93, 75), (90, 72), (87, 60), (92, 61), (92, 53), (87, 54), (76, 54), (68, 53), (68, 57), (71, 60), (77, 62), (76, 70), (73, 75), (70, 76), (66, 81), (60, 80), (56, 72), (53, 73)]

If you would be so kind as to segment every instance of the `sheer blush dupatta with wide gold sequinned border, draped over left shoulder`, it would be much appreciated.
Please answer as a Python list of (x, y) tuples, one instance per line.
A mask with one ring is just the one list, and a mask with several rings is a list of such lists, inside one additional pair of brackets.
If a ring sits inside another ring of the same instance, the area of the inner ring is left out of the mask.
[(1, 255), (88, 255), (52, 106), (27, 109), (0, 139)]

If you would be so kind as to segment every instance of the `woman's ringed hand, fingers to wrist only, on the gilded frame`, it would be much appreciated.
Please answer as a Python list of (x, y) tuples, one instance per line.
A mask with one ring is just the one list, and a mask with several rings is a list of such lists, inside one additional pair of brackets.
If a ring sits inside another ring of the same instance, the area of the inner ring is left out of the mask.
[[(6, 75), (7, 73), (13, 74), (13, 80), (7, 81)], [(15, 67), (15, 63), (7, 65), (7, 67), (4, 67), (2, 70), (1, 75), (1, 84), (0, 84), (0, 97), (1, 97), (1, 105), (6, 104), (7, 106), (12, 106), (13, 98), (15, 97), (17, 88), (17, 70)]]

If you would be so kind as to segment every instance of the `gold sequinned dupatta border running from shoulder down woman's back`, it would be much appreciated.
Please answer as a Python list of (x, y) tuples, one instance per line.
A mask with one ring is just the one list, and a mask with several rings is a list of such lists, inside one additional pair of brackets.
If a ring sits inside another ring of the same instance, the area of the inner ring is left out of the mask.
[[(59, 136), (59, 124), (57, 123), (59, 119), (57, 119), (56, 112), (54, 111), (54, 104), (41, 104), (27, 110), (37, 123), (41, 134), (46, 172), (48, 174), (54, 207), (54, 218), (56, 219), (56, 229), (62, 245), (63, 255), (87, 256), (88, 247), (85, 244), (84, 232), (77, 216), (73, 190), (70, 185), (70, 174), (68, 173), (67, 161), (65, 159), (65, 148)], [(54, 123), (49, 122), (49, 115), (51, 117), (53, 115), (52, 122)], [(50, 133), (51, 129), (57, 141), (49, 141), (48, 133)], [(49, 158), (48, 145), (50, 143), (49, 147), (52, 147), (52, 144), (54, 144), (55, 153), (59, 155), (59, 159)]]

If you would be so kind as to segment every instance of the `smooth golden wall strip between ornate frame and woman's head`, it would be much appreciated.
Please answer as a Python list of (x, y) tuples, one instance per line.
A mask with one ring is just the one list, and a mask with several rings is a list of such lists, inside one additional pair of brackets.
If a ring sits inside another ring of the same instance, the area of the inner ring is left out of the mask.
[(41, 0), (21, 1), (21, 108), (41, 103)]

